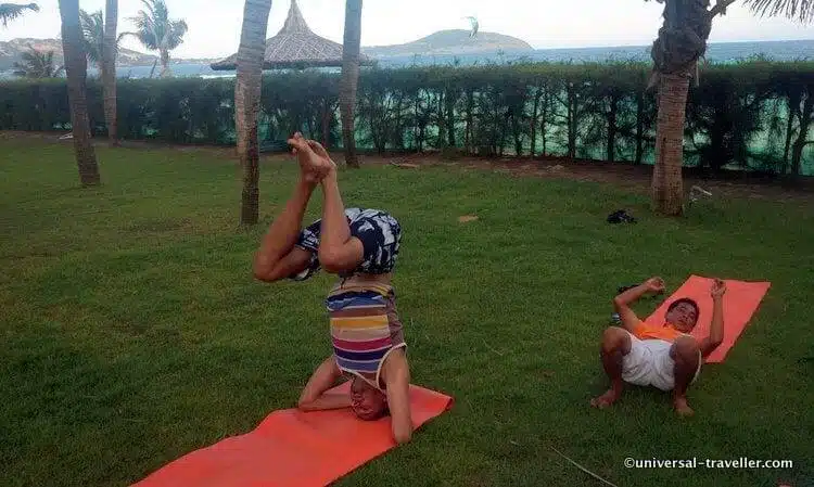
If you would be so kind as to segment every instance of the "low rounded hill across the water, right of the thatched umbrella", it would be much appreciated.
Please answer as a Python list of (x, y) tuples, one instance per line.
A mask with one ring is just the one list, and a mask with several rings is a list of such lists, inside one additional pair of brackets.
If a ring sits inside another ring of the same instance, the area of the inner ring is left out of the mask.
[(516, 37), (495, 33), (478, 33), (476, 37), (471, 38), (469, 34), (469, 30), (440, 30), (414, 42), (396, 46), (368, 47), (361, 48), (361, 51), (371, 57), (390, 57), (533, 50), (527, 42)]

